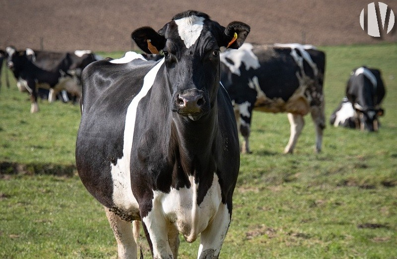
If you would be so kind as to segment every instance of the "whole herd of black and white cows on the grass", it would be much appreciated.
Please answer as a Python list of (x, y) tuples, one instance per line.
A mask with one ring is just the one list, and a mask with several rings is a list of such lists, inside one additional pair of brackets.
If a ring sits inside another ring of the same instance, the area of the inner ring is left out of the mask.
[[(50, 89), (49, 101), (61, 90), (82, 96), (77, 171), (105, 206), (120, 258), (136, 258), (137, 220), (153, 258), (176, 257), (178, 233), (188, 242), (200, 234), (199, 258), (218, 257), (239, 153), (251, 152), (253, 110), (288, 113), (285, 153), (293, 152), (310, 113), (321, 151), (325, 53), (311, 45), (244, 43), (249, 32), (245, 23), (224, 27), (186, 11), (158, 31), (132, 32), (146, 54), (99, 60), (86, 51), (1, 52), (18, 88), (29, 92), (32, 113), (38, 88)], [(379, 70), (354, 69), (331, 125), (377, 130), (384, 96)]]

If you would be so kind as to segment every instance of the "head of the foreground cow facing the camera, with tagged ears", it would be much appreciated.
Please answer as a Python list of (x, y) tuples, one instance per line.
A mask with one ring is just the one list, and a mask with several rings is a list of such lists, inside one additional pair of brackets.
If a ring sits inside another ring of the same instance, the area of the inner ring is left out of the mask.
[(185, 11), (158, 32), (150, 27), (133, 31), (132, 39), (146, 53), (162, 51), (172, 111), (196, 121), (216, 104), (220, 47), (238, 49), (249, 32), (242, 22), (225, 28), (205, 13)]

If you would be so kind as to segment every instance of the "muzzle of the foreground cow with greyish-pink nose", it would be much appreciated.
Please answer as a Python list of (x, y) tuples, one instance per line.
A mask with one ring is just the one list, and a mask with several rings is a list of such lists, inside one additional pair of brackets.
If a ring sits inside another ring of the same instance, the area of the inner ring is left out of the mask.
[(175, 106), (180, 115), (197, 121), (205, 106), (204, 93), (197, 89), (184, 90), (175, 96)]

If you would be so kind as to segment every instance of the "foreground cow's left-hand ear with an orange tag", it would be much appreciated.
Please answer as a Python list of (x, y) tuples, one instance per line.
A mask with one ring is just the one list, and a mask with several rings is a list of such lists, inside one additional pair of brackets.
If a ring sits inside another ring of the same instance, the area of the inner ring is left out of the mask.
[(158, 54), (164, 49), (165, 38), (150, 27), (136, 29), (131, 34), (138, 47), (148, 54)]

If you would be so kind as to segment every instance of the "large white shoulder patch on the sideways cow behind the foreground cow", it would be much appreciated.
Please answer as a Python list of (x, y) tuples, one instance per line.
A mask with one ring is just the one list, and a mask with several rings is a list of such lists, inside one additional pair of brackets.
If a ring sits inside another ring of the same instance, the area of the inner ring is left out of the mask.
[[(221, 53), (219, 55), (220, 61), (230, 69), (230, 72), (237, 75), (241, 75), (240, 66), (242, 63), (244, 63), (246, 70), (250, 68), (258, 69), (261, 65), (257, 56), (252, 52), (253, 48), (252, 44), (244, 43), (238, 50), (228, 50)], [(233, 64), (229, 63), (228, 60), (231, 60)]]

